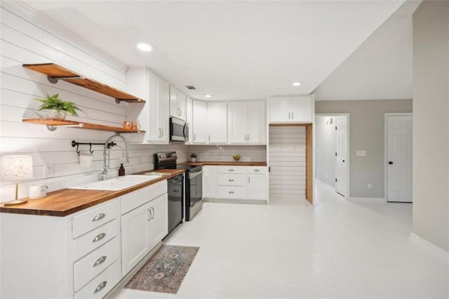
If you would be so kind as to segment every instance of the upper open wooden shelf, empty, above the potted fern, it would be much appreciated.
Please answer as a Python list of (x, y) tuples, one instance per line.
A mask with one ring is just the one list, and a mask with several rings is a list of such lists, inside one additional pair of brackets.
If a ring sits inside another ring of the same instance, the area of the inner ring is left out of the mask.
[(69, 83), (81, 86), (83, 88), (90, 89), (91, 91), (96, 91), (103, 95), (108, 95), (109, 97), (115, 98), (119, 101), (124, 102), (145, 102), (145, 100), (136, 97), (135, 95), (130, 95), (124, 91), (120, 91), (111, 86), (107, 86), (106, 84), (102, 84), (93, 79), (89, 79), (81, 74), (76, 72), (72, 72), (65, 67), (61, 67), (60, 65), (56, 65), (55, 63), (40, 63), (36, 65), (23, 65), (27, 69), (32, 69), (36, 72), (40, 72), (41, 74), (46, 74), (48, 77), (48, 81), (51, 83), (56, 83), (58, 80), (64, 80)]

